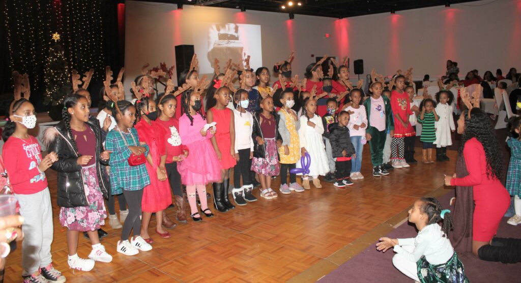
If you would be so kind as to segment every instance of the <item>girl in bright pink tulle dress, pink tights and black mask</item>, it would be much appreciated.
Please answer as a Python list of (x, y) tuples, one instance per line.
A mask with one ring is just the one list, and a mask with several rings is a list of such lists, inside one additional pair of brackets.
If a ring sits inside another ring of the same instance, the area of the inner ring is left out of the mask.
[[(177, 170), (181, 175), (181, 183), (187, 186), (190, 217), (193, 221), (199, 222), (203, 219), (197, 210), (195, 192), (204, 196), (206, 195), (206, 184), (221, 180), (221, 165), (212, 148), (212, 143), (209, 141), (215, 134), (215, 128), (204, 129), (206, 117), (201, 112), (200, 93), (185, 90), (182, 96), (183, 109), (186, 109), (186, 112), (179, 118), (179, 136), (182, 144), (188, 147), (190, 154), (180, 162)], [(204, 162), (201, 162), (202, 160)], [(222, 186), (221, 190), (216, 192), (214, 185), (214, 199), (217, 197), (220, 200), (221, 193)], [(199, 199), (205, 216), (213, 217), (214, 214), (208, 208), (206, 198), (200, 197)], [(214, 205), (217, 206), (216, 203)]]

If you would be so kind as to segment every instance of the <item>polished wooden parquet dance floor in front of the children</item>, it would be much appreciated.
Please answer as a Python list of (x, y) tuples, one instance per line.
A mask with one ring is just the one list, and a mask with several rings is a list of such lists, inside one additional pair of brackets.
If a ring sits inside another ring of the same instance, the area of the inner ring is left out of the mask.
[[(421, 160), (420, 155), (417, 147), (417, 160)], [(255, 203), (226, 213), (210, 205), (214, 218), (178, 224), (170, 230), (169, 239), (155, 234), (153, 217), (148, 229), (155, 241), (153, 250), (133, 257), (116, 252), (121, 229), (111, 229), (107, 218), (104, 229), (109, 235), (102, 244), (114, 260), (96, 262), (91, 272), (76, 274), (67, 265), (66, 233), (58, 222), (56, 206), (56, 173), (49, 170), (54, 266), (63, 272), (67, 282), (316, 281), (401, 223), (417, 198), (446, 193), (443, 174), (454, 173), (456, 152), (449, 151), (448, 155), (449, 162), (419, 163), (376, 178), (372, 176), (369, 146), (365, 146), (365, 179), (354, 181), (352, 186), (341, 190), (322, 182), (321, 189), (312, 185), (309, 191), (279, 193), (278, 198), (269, 200), (260, 198), (256, 189), (254, 194), (259, 200)], [(275, 179), (272, 187), (278, 188), (279, 182), (280, 178)], [(211, 193), (211, 186), (207, 190)], [(175, 219), (175, 211), (169, 209), (171, 219)], [(5, 282), (21, 281), (20, 250), (21, 245), (7, 258)], [(90, 241), (81, 236), (78, 254), (86, 258), (90, 251)], [(345, 281), (356, 282), (356, 278)]]

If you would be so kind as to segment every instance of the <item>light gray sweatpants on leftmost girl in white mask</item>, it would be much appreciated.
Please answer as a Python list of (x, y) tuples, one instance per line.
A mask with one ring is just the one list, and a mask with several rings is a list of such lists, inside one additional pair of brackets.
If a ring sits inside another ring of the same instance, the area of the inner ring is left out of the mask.
[(35, 273), (40, 267), (52, 263), (53, 209), (49, 188), (31, 194), (15, 194), (24, 218), (22, 232), (22, 276)]

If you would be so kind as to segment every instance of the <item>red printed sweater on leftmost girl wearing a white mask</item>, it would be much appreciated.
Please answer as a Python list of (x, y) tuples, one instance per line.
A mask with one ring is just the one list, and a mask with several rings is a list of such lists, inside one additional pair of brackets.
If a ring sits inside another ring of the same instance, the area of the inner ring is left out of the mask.
[(10, 137), (2, 149), (4, 164), (15, 194), (30, 195), (47, 187), (45, 173), (38, 165), (42, 160), (42, 149), (36, 138), (22, 140)]

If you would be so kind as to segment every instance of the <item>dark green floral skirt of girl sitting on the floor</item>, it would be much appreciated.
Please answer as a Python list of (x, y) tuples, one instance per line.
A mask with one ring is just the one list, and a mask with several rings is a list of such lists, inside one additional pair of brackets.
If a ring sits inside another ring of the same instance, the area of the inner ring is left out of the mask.
[(458, 259), (456, 252), (446, 263), (432, 265), (422, 256), (416, 262), (418, 278), (421, 283), (468, 283), (463, 263)]

